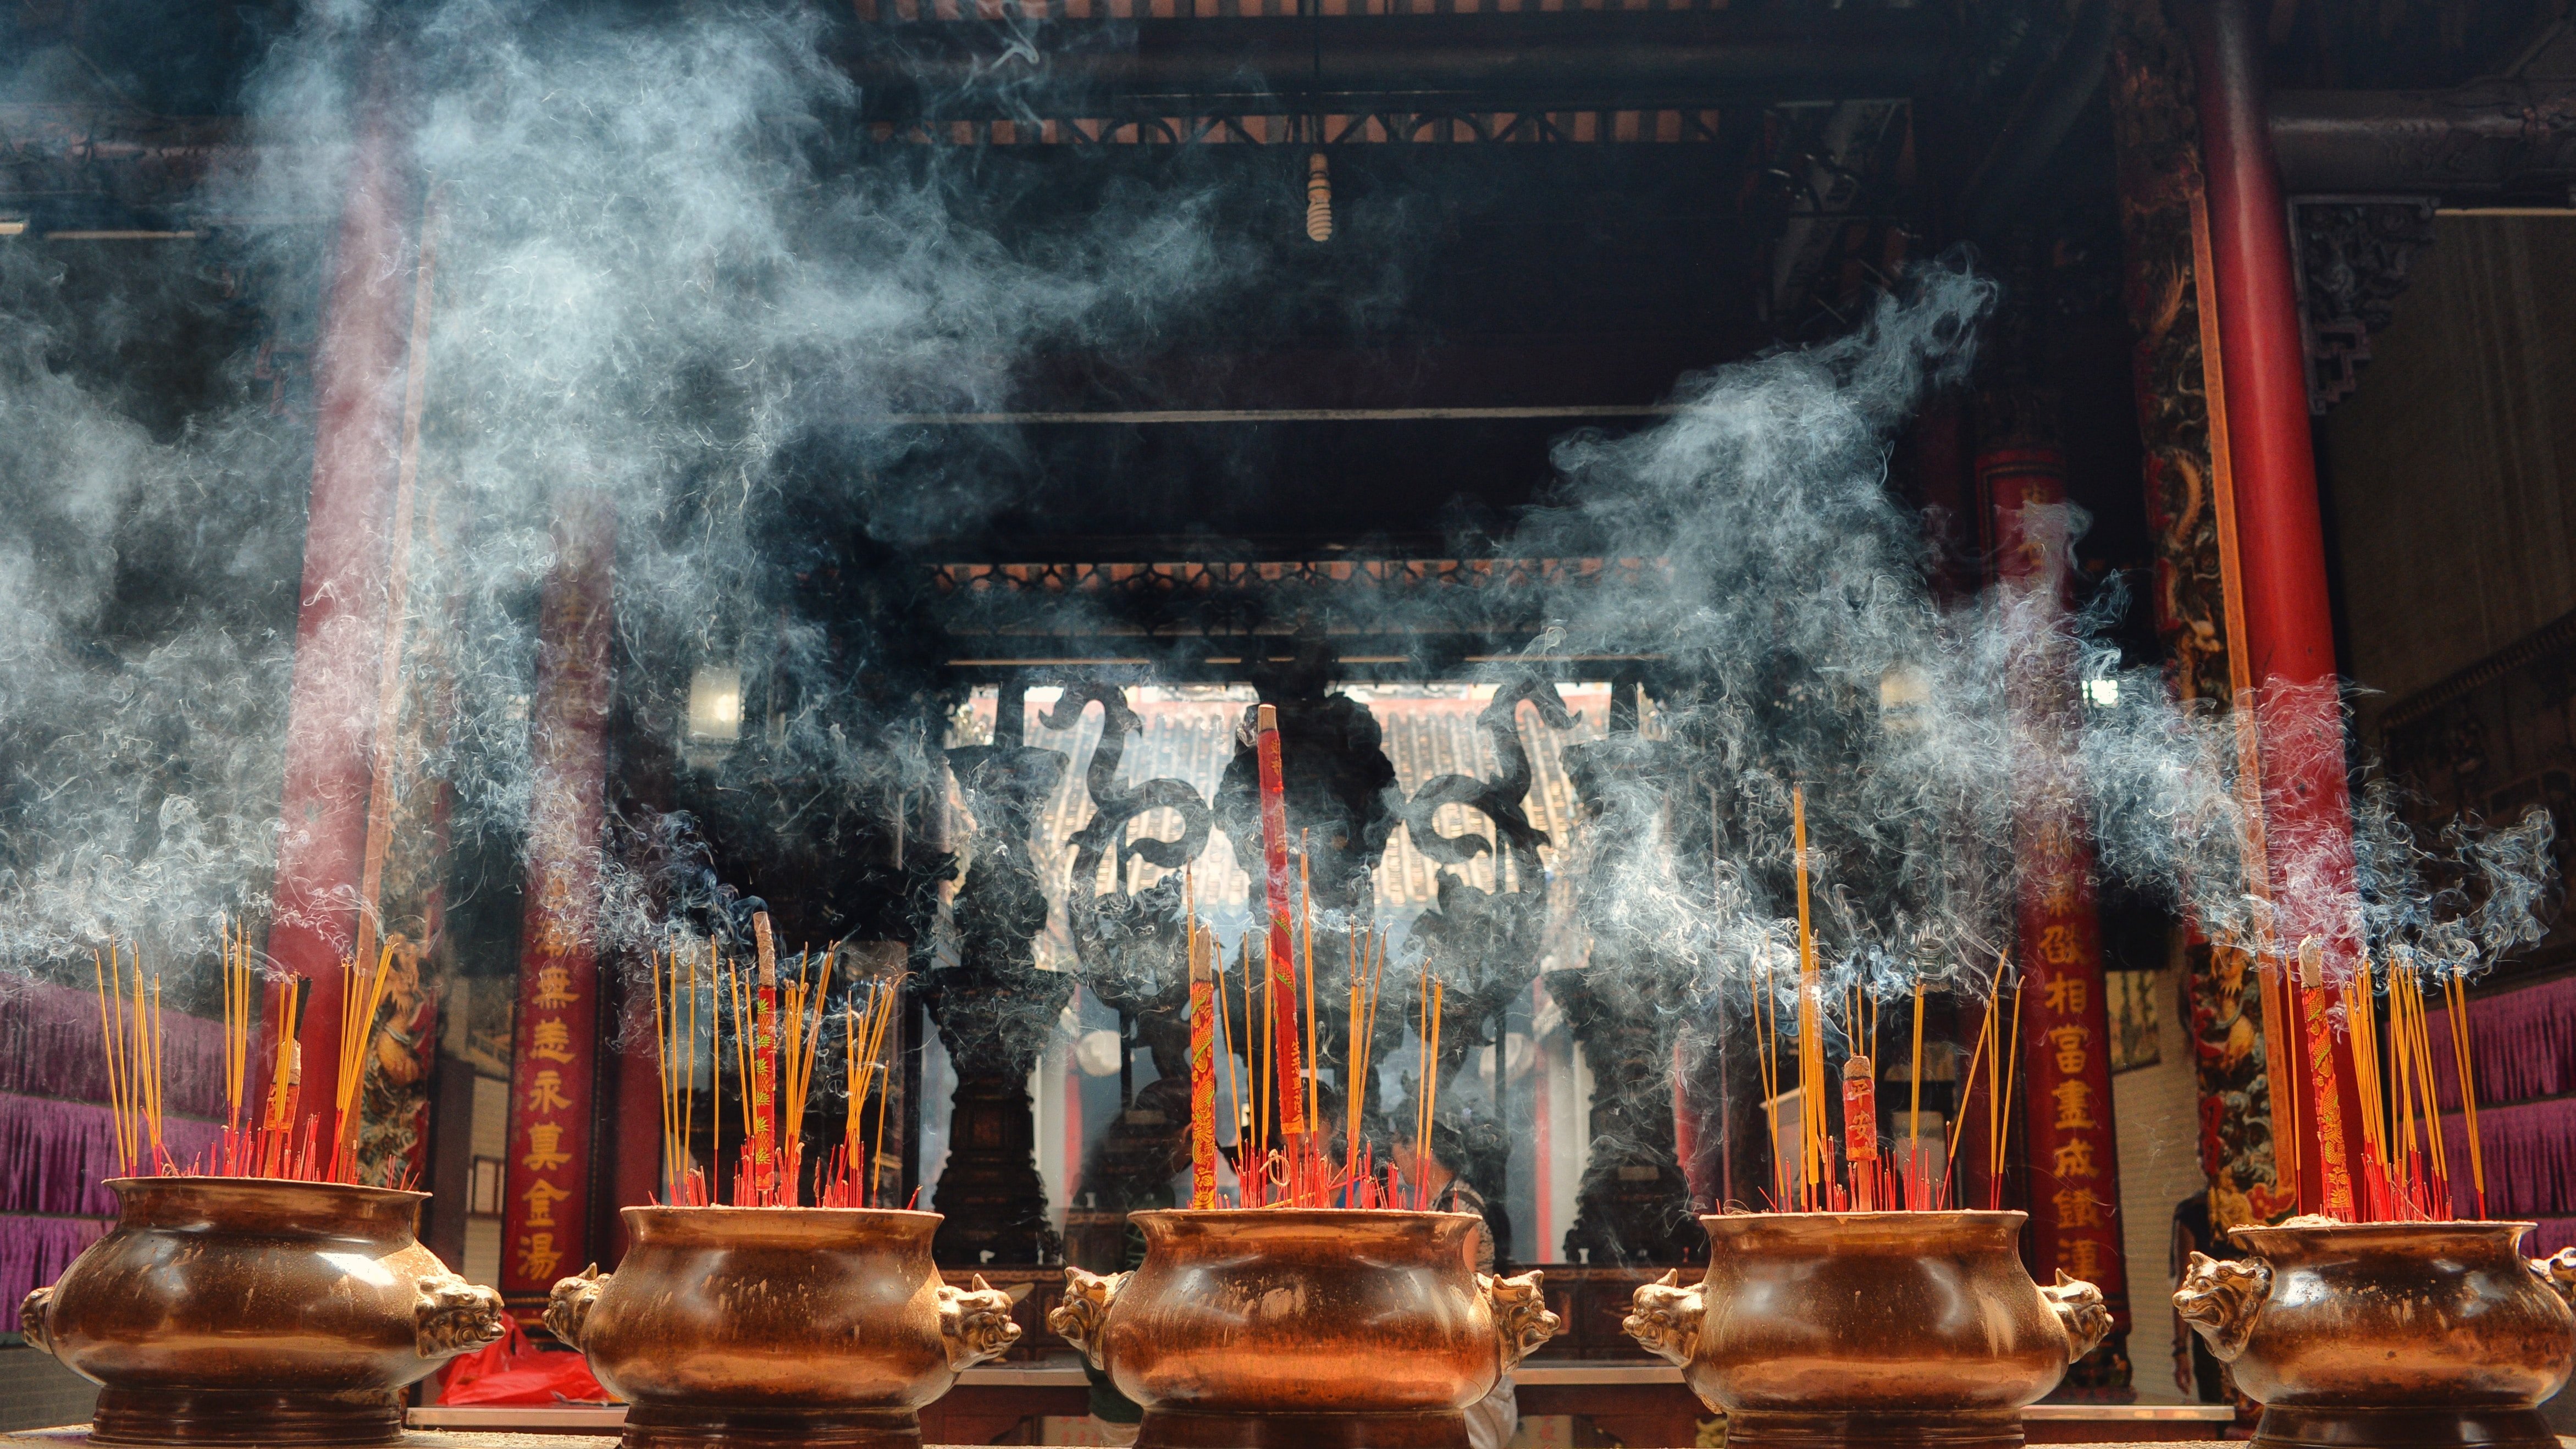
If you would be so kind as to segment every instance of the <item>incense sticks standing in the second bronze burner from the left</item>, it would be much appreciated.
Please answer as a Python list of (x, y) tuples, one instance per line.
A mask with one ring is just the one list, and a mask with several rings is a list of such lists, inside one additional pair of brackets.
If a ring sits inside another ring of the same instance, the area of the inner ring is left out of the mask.
[[(778, 947), (768, 914), (752, 916), (752, 973), (726, 963), (714, 945), (706, 955), (665, 952), (652, 957), (654, 978), (654, 1063), (662, 1086), (662, 1179), (665, 1202), (708, 1207), (716, 1202), (706, 1168), (696, 1166), (690, 1140), (698, 1122), (698, 1037), (701, 1037), (701, 960), (706, 968), (706, 1040), (724, 1042), (732, 1011), (734, 1107), (742, 1117), (742, 1145), (734, 1156), (734, 1207), (796, 1207), (804, 1189), (804, 1117), (814, 1099), (814, 1066), (829, 1011), (829, 952), (799, 952), (793, 975), (781, 975)], [(814, 1184), (819, 1207), (878, 1207), (884, 1189), (886, 1032), (902, 1004), (902, 978), (876, 978), (866, 991), (842, 999), (842, 1071), (850, 1114), (842, 1140), (832, 1145)], [(721, 1135), (724, 1060), (708, 1063), (708, 1140)], [(873, 1120), (868, 1102), (876, 1102)]]

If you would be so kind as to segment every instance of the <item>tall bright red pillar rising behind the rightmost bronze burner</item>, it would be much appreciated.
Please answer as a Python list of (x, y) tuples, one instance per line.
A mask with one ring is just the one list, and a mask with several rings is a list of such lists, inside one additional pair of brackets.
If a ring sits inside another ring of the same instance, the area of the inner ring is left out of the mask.
[[(2352, 800), (2290, 219), (2264, 118), (2262, 21), (2249, 0), (2200, 0), (2192, 64), (2226, 360), (2246, 677), (2259, 700), (2262, 852), (2275, 909), (2269, 945), (2295, 957), (2298, 945), (2316, 937), (2326, 947), (2326, 981), (2334, 981), (2352, 970), (2360, 950)], [(2293, 1001), (2282, 1035), (2295, 1032), (2306, 1048), (2300, 1058), (2331, 1063), (2336, 1081), (2336, 1091), (2300, 1104), (2303, 1156), (2313, 1150), (2324, 1163), (2324, 1199), (2303, 1207), (2352, 1217), (2352, 1153), (2360, 1143), (2344, 1140), (2342, 1130), (2360, 1114), (2352, 1042), (2329, 1032), (2324, 1001), (2295, 975), (2293, 991), (2303, 1001)], [(2298, 1032), (2298, 1024), (2308, 1029)]]

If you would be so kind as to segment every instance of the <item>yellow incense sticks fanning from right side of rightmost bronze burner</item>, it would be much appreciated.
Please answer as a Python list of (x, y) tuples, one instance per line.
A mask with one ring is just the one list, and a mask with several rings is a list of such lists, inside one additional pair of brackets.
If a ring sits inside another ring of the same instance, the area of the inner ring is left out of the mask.
[[(2424, 981), (2414, 957), (2398, 952), (2388, 963), (2388, 1042), (2380, 1045), (2378, 981), (2362, 957), (2339, 986), (2344, 1022), (2352, 1032), (2352, 1071), (2362, 1102), (2362, 1181), (2354, 1212), (2362, 1223), (2445, 1223), (2458, 1207), (2452, 1197), (2450, 1153), (2442, 1140), (2442, 1099), (2432, 1073), (2432, 1029), (2424, 1014)], [(2460, 1114), (2468, 1127), (2468, 1171), (2478, 1217), (2486, 1217), (2486, 1153), (2478, 1143), (2478, 1089), (2470, 1071), (2468, 991), (2458, 975), (2442, 975), (2442, 1004), (2450, 1017), (2450, 1050), (2460, 1078)], [(2424, 1140), (2416, 1140), (2416, 1114)]]

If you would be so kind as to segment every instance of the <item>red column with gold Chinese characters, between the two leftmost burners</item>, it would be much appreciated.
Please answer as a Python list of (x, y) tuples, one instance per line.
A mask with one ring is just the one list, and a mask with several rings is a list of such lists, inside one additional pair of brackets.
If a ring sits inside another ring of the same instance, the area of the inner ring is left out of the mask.
[(544, 1297), (590, 1256), (590, 1117), (600, 1037), (600, 829), (608, 818), (608, 641), (616, 517), (556, 507), (528, 705), (528, 896), (510, 1055), (500, 1289)]

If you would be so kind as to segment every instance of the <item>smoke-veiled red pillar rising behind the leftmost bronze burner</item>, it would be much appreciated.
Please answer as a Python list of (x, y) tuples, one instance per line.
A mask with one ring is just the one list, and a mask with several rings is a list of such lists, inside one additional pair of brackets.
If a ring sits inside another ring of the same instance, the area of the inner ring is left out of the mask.
[(340, 201), (314, 355), (314, 481), (268, 932), (268, 955), (312, 981), (301, 1109), (319, 1112), (325, 1130), (340, 1073), (340, 957), (353, 947), (366, 857), (415, 214), (392, 126), (371, 116)]

